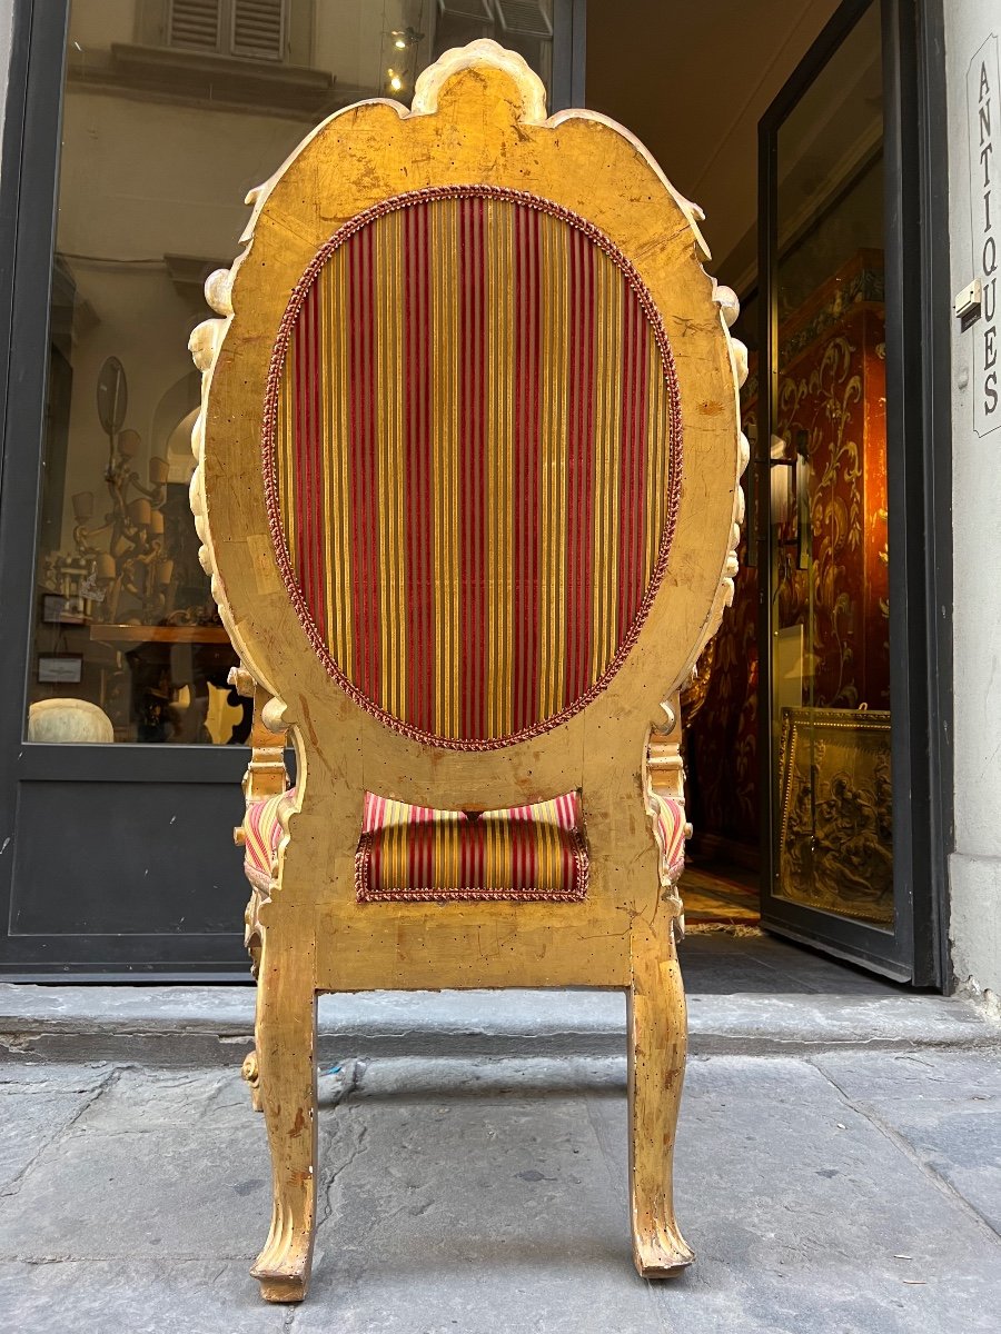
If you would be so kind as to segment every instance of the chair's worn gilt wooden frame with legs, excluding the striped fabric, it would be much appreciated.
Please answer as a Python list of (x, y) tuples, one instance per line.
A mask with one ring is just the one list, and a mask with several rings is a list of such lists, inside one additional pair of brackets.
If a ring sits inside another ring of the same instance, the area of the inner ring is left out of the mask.
[[(290, 295), (348, 219), (432, 185), (531, 191), (586, 217), (631, 260), (674, 350), (683, 472), (666, 578), (609, 686), (542, 735), (450, 751), (391, 731), (324, 671), (282, 582), (260, 472), (268, 362)], [(296, 1301), (315, 1222), (315, 996), (439, 987), (622, 987), (630, 996), (631, 1201), (642, 1274), (691, 1251), (674, 1221), (671, 1159), (685, 1065), (675, 955), (679, 863), (665, 802), (682, 798), (675, 691), (733, 596), (742, 515), (737, 374), (725, 312), (702, 268), (697, 213), (643, 148), (602, 116), (546, 119), (521, 56), (478, 41), (418, 81), (412, 109), (374, 100), (324, 121), (263, 187), (232, 269), (207, 284), (219, 319), (192, 336), (203, 371), (192, 510), (212, 591), (255, 696), (247, 796), (283, 783), (295, 746), (295, 802), (247, 940), (258, 971), (256, 1053), (246, 1075), (264, 1110), (274, 1222), (254, 1269), (266, 1298)], [(722, 291), (722, 289), (721, 289)], [(582, 792), (590, 891), (578, 903), (375, 903), (354, 892), (366, 790), (455, 810), (494, 810)]]

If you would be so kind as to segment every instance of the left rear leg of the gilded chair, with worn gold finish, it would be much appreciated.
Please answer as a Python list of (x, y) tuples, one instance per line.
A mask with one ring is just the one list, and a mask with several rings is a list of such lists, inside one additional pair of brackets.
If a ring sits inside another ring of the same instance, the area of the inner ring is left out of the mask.
[(303, 951), (264, 936), (258, 978), (259, 1095), (267, 1122), (274, 1213), (251, 1274), (268, 1302), (300, 1302), (316, 1226), (316, 992)]

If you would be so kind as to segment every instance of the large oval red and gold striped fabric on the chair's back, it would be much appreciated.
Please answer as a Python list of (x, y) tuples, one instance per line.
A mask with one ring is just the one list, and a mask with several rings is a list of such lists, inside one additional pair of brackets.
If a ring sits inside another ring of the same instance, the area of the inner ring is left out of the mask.
[(484, 748), (603, 688), (667, 562), (677, 380), (626, 257), (491, 187), (352, 219), (296, 287), (264, 479), (327, 671), (407, 735)]

